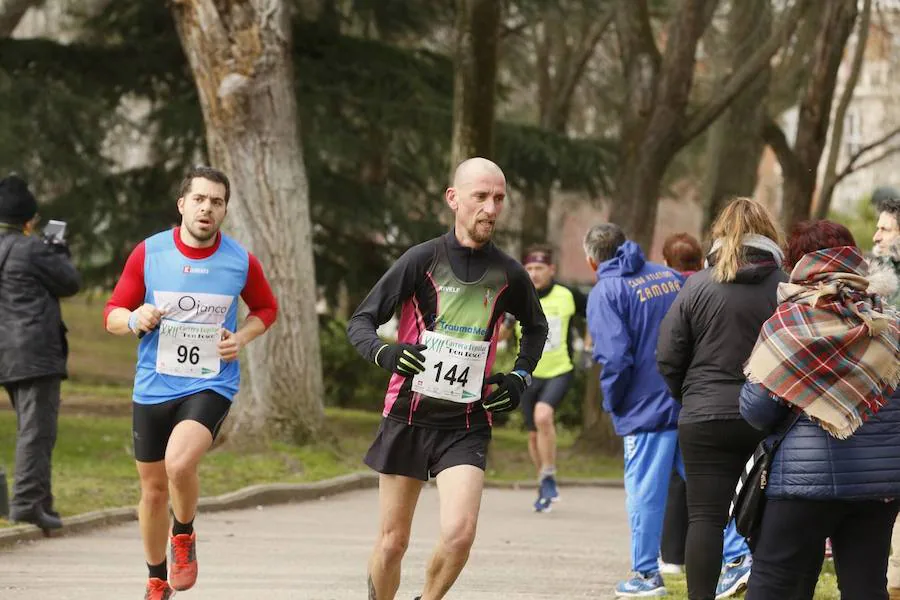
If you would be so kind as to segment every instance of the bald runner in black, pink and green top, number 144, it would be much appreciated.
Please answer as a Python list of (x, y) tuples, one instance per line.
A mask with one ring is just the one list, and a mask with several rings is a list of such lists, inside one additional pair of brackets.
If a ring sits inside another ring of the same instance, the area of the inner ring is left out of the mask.
[[(503, 210), (506, 179), (475, 158), (457, 167), (446, 192), (455, 226), (407, 251), (350, 320), (348, 335), (366, 359), (393, 373), (384, 419), (366, 455), (381, 474), (381, 530), (369, 562), (369, 598), (391, 600), (422, 485), (437, 480), (441, 541), (423, 597), (443, 598), (475, 538), (491, 439), (490, 411), (519, 404), (541, 358), (547, 320), (525, 269), (491, 237)], [(400, 308), (397, 343), (376, 334)], [(514, 370), (490, 376), (500, 322), (522, 323)], [(490, 385), (499, 384), (491, 392)]]

